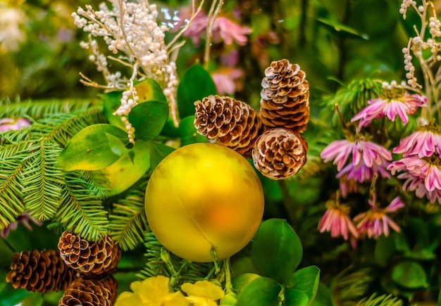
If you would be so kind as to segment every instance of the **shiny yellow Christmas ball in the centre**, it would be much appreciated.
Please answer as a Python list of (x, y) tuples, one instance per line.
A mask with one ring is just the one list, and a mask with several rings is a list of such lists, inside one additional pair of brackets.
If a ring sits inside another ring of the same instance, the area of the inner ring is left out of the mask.
[(147, 185), (151, 231), (170, 252), (194, 262), (222, 260), (253, 238), (263, 189), (249, 162), (218, 144), (190, 144), (164, 158)]

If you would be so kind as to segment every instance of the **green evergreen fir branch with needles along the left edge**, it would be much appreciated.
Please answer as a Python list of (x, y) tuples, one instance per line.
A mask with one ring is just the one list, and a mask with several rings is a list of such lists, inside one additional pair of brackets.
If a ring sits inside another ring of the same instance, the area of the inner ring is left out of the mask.
[(0, 117), (25, 117), (32, 125), (0, 136), (0, 229), (27, 210), (96, 241), (107, 234), (102, 203), (106, 180), (99, 173), (63, 172), (58, 155), (82, 128), (104, 123), (101, 106), (90, 101), (0, 103)]

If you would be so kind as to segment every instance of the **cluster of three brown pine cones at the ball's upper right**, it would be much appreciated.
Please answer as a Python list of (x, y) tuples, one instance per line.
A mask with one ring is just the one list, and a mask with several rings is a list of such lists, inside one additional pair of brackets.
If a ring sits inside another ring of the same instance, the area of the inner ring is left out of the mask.
[(194, 126), (211, 141), (228, 146), (270, 179), (286, 179), (306, 162), (308, 145), (299, 134), (309, 122), (309, 82), (299, 65), (278, 60), (262, 79), (261, 109), (228, 96), (196, 101)]

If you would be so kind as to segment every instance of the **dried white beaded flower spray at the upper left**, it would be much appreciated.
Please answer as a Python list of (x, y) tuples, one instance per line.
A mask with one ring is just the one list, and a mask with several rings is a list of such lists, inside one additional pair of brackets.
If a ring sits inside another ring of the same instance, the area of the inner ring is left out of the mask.
[[(121, 105), (115, 115), (121, 117), (128, 130), (130, 142), (135, 143), (135, 130), (128, 121), (128, 114), (138, 101), (135, 80), (150, 78), (161, 85), (170, 103), (170, 115), (175, 125), (178, 125), (175, 96), (179, 81), (173, 54), (182, 46), (176, 42), (187, 27), (166, 45), (164, 37), (168, 27), (157, 22), (156, 5), (149, 4), (147, 0), (109, 0), (108, 3), (111, 4), (111, 8), (101, 3), (99, 11), (94, 11), (92, 6), (87, 5), (85, 9), (78, 8), (77, 12), (72, 14), (75, 25), (90, 33), (89, 41), (82, 42), (81, 46), (92, 51), (89, 59), (97, 65), (97, 70), (101, 71), (106, 79), (106, 85), (99, 85), (82, 75), (82, 82), (106, 90), (124, 89)], [(197, 9), (194, 4), (193, 2), (190, 23), (201, 10), (203, 1)], [(113, 56), (105, 56), (99, 51), (96, 37), (104, 39), (108, 51), (113, 53)], [(131, 68), (132, 75), (124, 77), (120, 72), (112, 73), (108, 68), (108, 60)]]

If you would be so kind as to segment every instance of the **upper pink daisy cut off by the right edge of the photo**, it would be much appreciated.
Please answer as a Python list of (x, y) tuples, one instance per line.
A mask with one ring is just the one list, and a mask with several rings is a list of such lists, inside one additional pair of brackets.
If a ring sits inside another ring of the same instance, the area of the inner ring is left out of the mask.
[(418, 158), (441, 153), (441, 135), (430, 129), (416, 131), (399, 141), (399, 146), (392, 150), (393, 153), (403, 153), (403, 157), (418, 155)]

